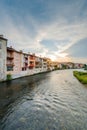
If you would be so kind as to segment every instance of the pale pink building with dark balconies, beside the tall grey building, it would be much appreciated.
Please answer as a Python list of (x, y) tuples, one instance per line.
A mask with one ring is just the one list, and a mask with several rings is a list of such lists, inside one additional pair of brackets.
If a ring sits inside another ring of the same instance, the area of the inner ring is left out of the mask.
[(7, 47), (7, 74), (20, 74), (21, 70), (21, 52)]

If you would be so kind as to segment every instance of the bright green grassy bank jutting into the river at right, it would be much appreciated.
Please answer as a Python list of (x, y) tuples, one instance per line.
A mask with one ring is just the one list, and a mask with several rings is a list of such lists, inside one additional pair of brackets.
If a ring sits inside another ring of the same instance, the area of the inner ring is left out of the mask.
[(87, 72), (73, 71), (73, 75), (83, 84), (87, 84)]

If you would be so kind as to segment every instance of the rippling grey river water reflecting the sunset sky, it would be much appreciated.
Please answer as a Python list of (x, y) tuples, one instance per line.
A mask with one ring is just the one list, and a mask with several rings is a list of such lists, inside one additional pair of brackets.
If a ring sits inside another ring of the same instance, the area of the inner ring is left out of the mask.
[(72, 71), (0, 83), (0, 130), (87, 130), (87, 86)]

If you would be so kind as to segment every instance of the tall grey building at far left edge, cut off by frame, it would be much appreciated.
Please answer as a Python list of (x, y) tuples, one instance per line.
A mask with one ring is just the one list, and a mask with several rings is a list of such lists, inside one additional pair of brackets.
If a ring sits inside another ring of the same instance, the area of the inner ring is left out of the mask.
[(6, 80), (7, 39), (0, 35), (0, 81)]

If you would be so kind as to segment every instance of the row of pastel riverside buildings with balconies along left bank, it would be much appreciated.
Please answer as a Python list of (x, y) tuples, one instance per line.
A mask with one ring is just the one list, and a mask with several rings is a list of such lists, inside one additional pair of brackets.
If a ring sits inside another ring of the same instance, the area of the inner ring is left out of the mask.
[(52, 69), (52, 61), (49, 58), (41, 58), (7, 47), (7, 39), (0, 36), (0, 81), (5, 81), (8, 74), (15, 79)]

